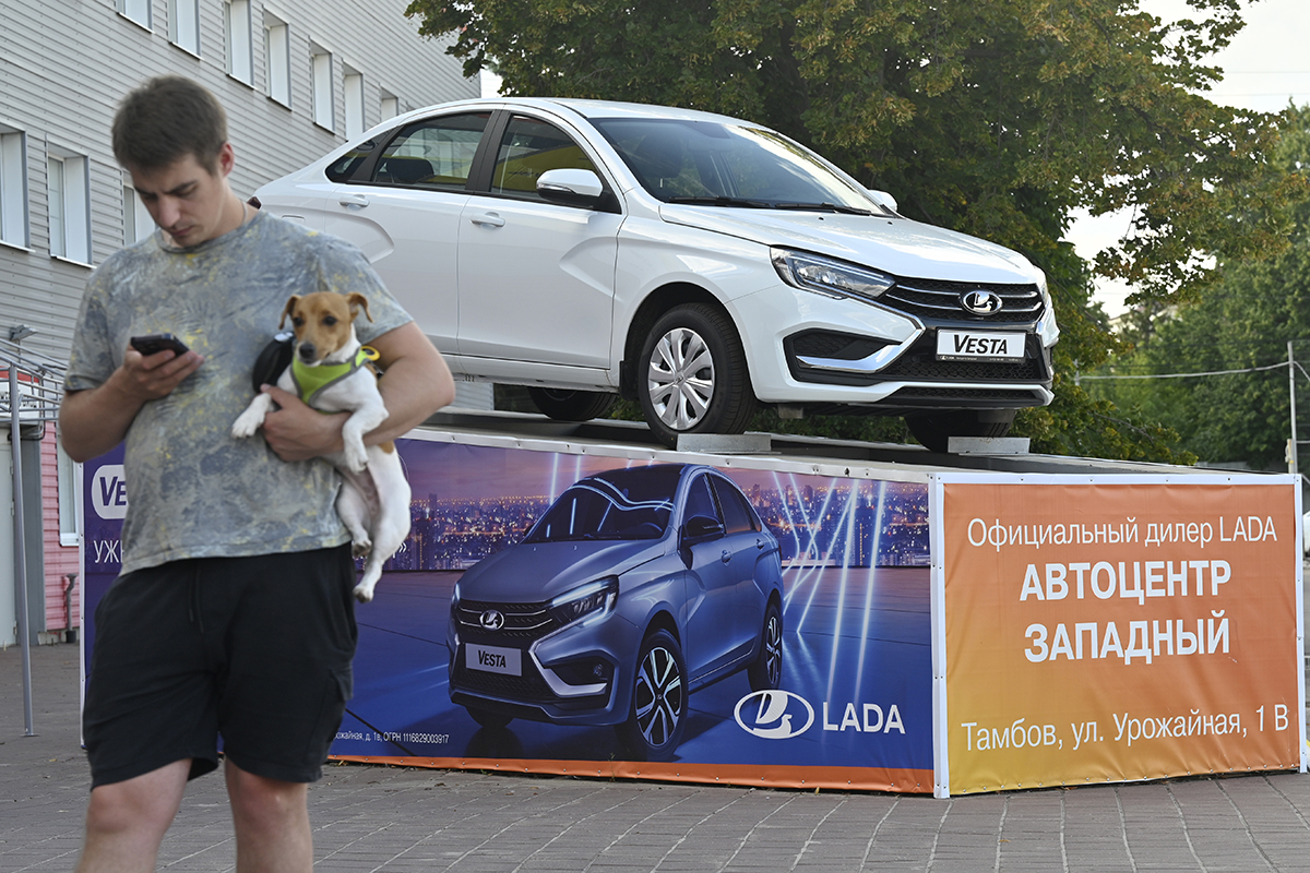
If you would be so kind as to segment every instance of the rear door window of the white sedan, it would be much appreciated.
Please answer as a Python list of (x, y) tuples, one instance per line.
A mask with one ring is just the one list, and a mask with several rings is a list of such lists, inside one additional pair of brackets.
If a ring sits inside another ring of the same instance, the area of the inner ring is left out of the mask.
[(428, 118), (406, 126), (377, 158), (369, 182), (462, 191), (490, 113)]

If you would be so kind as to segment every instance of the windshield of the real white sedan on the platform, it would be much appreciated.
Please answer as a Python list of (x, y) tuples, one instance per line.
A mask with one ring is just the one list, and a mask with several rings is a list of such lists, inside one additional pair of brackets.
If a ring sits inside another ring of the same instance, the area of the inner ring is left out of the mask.
[(591, 120), (642, 187), (664, 203), (884, 213), (819, 156), (762, 127), (650, 118)]

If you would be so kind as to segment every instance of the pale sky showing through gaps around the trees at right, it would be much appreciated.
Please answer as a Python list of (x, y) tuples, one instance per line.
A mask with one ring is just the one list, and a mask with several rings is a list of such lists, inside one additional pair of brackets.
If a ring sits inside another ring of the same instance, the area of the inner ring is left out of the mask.
[[(1161, 18), (1196, 17), (1183, 0), (1141, 0), (1141, 8)], [(1310, 0), (1256, 0), (1243, 4), (1246, 27), (1209, 63), (1224, 69), (1224, 80), (1209, 93), (1216, 103), (1276, 113), (1290, 99), (1310, 103)], [(1091, 259), (1114, 245), (1128, 229), (1128, 213), (1078, 219), (1069, 241), (1078, 254)], [(1131, 289), (1100, 280), (1098, 300), (1110, 315), (1124, 312)]]

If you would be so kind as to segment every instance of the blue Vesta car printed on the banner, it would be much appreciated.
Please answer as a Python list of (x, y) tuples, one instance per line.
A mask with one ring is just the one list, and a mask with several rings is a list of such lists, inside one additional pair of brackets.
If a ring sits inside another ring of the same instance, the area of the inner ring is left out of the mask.
[(740, 670), (779, 686), (778, 542), (713, 467), (595, 474), (464, 575), (447, 645), (451, 700), (478, 724), (613, 725), (665, 760), (690, 692)]

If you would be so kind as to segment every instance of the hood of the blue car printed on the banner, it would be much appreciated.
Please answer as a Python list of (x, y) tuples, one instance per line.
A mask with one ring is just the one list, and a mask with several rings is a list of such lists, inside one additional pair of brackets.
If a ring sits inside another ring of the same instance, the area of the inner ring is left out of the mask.
[(519, 543), (473, 565), (460, 579), (460, 597), (529, 603), (578, 585), (618, 576), (664, 552), (662, 539)]

